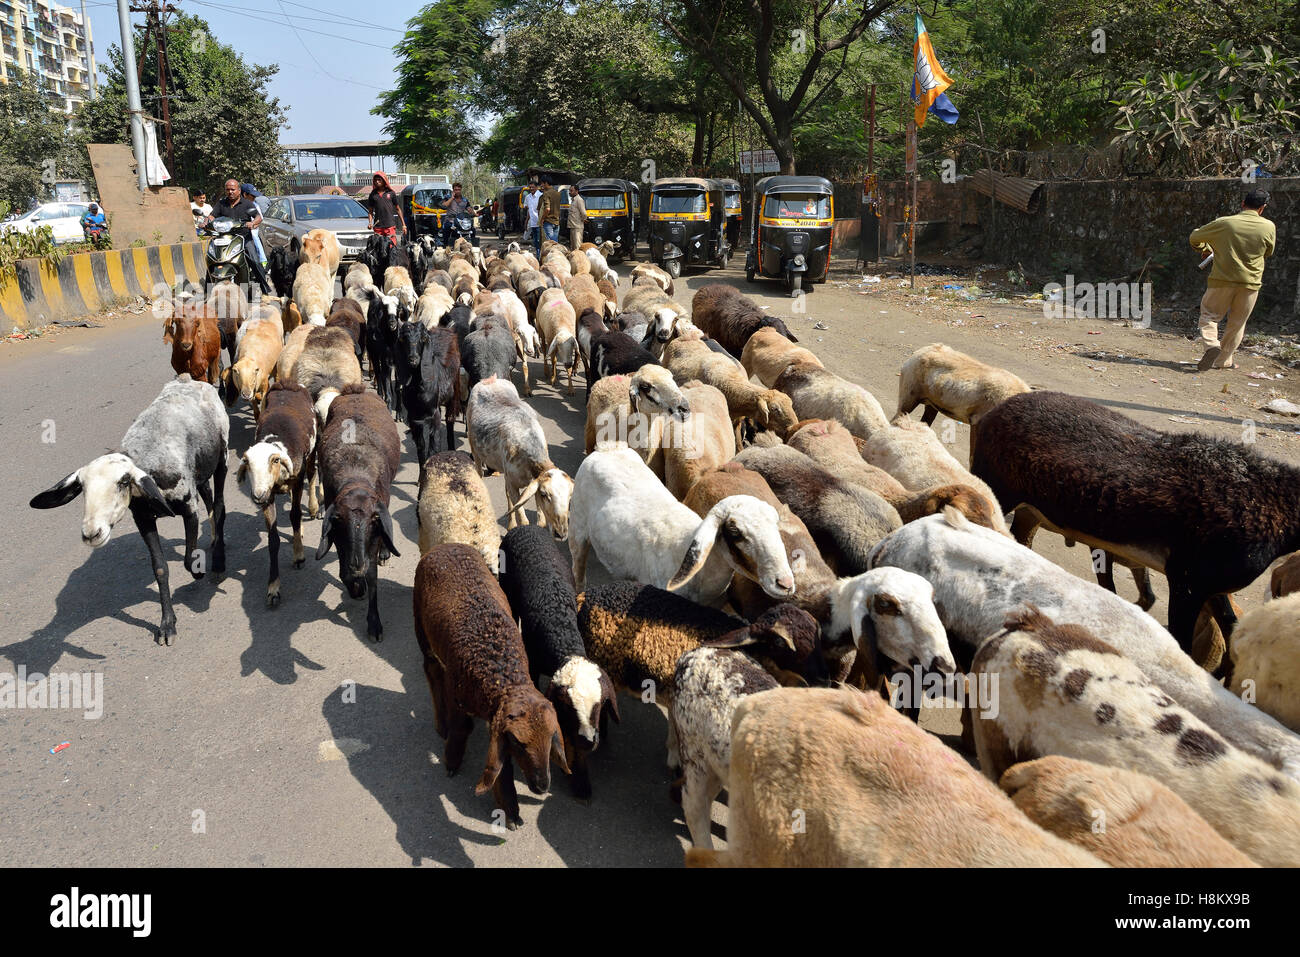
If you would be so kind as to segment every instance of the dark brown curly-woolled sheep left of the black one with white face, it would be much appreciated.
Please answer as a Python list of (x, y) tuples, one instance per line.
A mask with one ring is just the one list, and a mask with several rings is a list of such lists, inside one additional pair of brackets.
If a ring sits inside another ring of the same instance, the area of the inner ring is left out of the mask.
[(555, 707), (528, 675), (510, 602), (476, 549), (448, 544), (416, 566), (413, 606), (434, 727), (447, 742), (447, 775), (460, 770), (473, 719), (488, 722), (488, 763), (474, 793), (491, 789), (515, 830), (524, 819), (514, 762), (534, 794), (550, 789), (552, 758), (564, 774), (569, 767)]

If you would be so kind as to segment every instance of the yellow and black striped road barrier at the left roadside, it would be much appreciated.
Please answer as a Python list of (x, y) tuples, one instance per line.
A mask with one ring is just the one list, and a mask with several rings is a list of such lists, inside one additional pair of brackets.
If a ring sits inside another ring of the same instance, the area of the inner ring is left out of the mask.
[(205, 243), (74, 252), (57, 265), (43, 259), (14, 264), (0, 278), (0, 334), (38, 328), (57, 319), (99, 312), (122, 299), (150, 298), (153, 286), (199, 282)]

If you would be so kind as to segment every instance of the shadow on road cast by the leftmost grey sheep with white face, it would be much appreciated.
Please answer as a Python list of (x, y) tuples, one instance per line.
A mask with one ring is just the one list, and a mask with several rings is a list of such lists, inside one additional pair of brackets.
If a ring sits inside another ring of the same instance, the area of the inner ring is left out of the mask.
[[(168, 532), (173, 534), (169, 536)], [(187, 633), (202, 631), (200, 616), (212, 603), (220, 583), (214, 586), (211, 572), (195, 580), (185, 570), (185, 527), (181, 519), (159, 520), (159, 540), (168, 560), (168, 581), (177, 612), (177, 640), (183, 641)], [(211, 524), (204, 521), (199, 547), (211, 557)], [(14, 664), (26, 664), (30, 674), (48, 674), (65, 653), (86, 661), (104, 661), (107, 655), (69, 641), (74, 632), (103, 619), (114, 619), (138, 628), (142, 641), (152, 641), (157, 636), (162, 609), (150, 553), (135, 523), (120, 523), (105, 545), (87, 549), (87, 553), (86, 560), (73, 570), (58, 590), (49, 622), (27, 638), (0, 645), (0, 654), (10, 658)], [(142, 602), (151, 607), (152, 614), (147, 619), (126, 611)]]

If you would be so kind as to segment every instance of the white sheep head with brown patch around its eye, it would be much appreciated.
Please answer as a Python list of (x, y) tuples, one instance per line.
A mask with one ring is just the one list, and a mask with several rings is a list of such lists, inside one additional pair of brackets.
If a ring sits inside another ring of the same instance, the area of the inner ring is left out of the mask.
[(880, 659), (952, 675), (957, 671), (939, 612), (935, 588), (902, 568), (872, 568), (853, 580), (849, 605), (853, 644), (867, 663)]

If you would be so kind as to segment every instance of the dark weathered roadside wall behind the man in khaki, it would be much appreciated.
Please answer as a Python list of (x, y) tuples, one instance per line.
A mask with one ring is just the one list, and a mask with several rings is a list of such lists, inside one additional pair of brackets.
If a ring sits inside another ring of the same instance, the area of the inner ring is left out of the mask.
[[(1278, 230), (1278, 246), (1264, 272), (1264, 289), (1252, 317), (1253, 328), (1300, 330), (1300, 177), (1260, 179), (1271, 199), (1265, 216)], [(885, 237), (904, 218), (905, 183), (884, 183)], [(1039, 209), (1023, 213), (997, 204), (991, 220), (988, 196), (965, 181), (945, 185), (923, 181), (918, 190), (918, 221), (941, 221), (937, 233), (950, 241), (962, 226), (984, 231), (983, 259), (1020, 263), (1026, 269), (1065, 282), (1136, 280), (1143, 265), (1156, 294), (1179, 290), (1199, 296), (1205, 273), (1187, 235), (1196, 226), (1236, 212), (1247, 187), (1239, 179), (1101, 179), (1054, 181), (1043, 187)], [(936, 229), (923, 233), (935, 235)], [(888, 246), (887, 251), (893, 251)], [(1145, 280), (1144, 280), (1145, 281)]]

